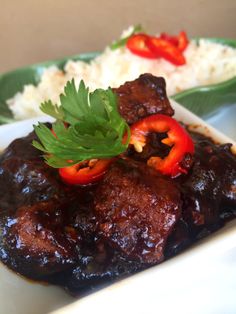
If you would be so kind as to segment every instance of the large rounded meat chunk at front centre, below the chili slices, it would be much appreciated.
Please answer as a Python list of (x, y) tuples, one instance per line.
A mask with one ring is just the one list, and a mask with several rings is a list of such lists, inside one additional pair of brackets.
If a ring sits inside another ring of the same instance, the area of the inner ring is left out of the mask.
[(145, 164), (120, 160), (96, 191), (95, 211), (110, 245), (131, 260), (157, 263), (181, 215), (180, 192)]

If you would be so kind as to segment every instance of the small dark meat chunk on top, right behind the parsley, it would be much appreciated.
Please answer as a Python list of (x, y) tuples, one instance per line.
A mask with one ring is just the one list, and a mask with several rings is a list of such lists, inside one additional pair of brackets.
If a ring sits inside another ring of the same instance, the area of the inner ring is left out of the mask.
[(113, 91), (118, 95), (119, 112), (129, 124), (156, 113), (168, 116), (174, 114), (162, 77), (142, 74), (138, 79), (126, 82)]

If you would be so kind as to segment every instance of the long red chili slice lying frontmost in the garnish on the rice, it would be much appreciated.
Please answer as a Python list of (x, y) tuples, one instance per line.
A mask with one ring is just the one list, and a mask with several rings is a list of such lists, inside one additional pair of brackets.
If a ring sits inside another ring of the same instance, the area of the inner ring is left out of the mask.
[(146, 44), (157, 56), (162, 57), (175, 65), (183, 65), (186, 63), (182, 52), (165, 39), (149, 37)]

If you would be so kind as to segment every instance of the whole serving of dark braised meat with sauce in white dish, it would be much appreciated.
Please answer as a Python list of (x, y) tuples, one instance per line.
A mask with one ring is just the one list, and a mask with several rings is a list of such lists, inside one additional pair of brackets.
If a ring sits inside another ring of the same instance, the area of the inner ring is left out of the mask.
[[(173, 115), (165, 82), (141, 75), (114, 89), (129, 124)], [(230, 144), (196, 133), (188, 174), (169, 178), (147, 166), (165, 158), (166, 133), (150, 133), (141, 153), (130, 147), (104, 178), (64, 184), (32, 146), (34, 132), (0, 156), (0, 260), (29, 278), (73, 294), (157, 264), (236, 217), (236, 158)]]

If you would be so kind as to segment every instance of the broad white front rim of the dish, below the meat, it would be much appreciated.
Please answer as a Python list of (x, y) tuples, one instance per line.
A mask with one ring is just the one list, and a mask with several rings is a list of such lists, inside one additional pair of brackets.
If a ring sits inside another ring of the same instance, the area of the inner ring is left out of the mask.
[(233, 314), (236, 312), (236, 250), (228, 244), (235, 245), (235, 231), (226, 238), (226, 241), (218, 238), (199, 244), (54, 314)]

